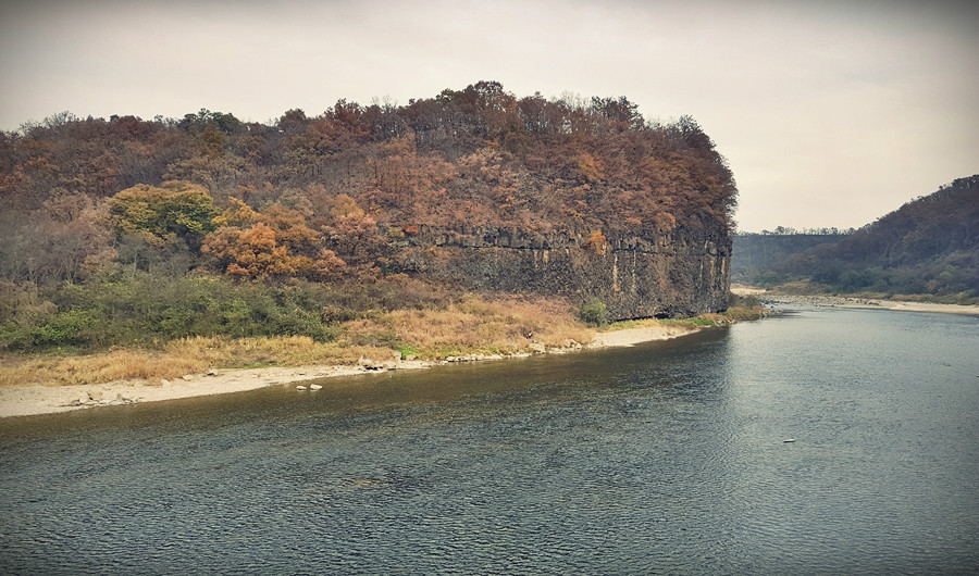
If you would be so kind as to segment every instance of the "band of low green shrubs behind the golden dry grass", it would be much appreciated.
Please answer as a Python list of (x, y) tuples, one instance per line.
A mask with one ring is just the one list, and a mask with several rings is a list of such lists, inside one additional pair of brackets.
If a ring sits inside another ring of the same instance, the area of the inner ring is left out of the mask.
[[(344, 322), (398, 308), (437, 309), (450, 295), (400, 275), (276, 285), (116, 267), (83, 284), (26, 296), (20, 287), (0, 285), (0, 350), (158, 347), (195, 336), (308, 336), (326, 342), (343, 334)], [(362, 340), (358, 343), (404, 345), (389, 330)]]

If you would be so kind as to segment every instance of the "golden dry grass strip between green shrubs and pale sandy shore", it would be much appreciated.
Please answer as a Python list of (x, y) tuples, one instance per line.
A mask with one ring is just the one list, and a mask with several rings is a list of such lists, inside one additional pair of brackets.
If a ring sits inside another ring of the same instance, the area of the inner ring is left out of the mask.
[[(419, 358), (512, 353), (531, 341), (562, 347), (587, 342), (592, 333), (570, 306), (542, 298), (467, 297), (446, 310), (399, 310), (342, 325), (335, 342), (306, 336), (184, 338), (162, 350), (112, 350), (75, 356), (0, 355), (0, 386), (67, 385), (142, 379), (159, 381), (211, 368), (262, 365), (348, 365), (363, 355), (392, 358), (392, 348), (413, 348)], [(362, 343), (368, 342), (368, 343)]]

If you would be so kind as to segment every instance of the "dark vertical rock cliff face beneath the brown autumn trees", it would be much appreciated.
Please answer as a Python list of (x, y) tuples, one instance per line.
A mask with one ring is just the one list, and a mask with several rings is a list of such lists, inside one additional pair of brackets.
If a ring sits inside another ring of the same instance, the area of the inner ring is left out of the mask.
[(679, 228), (662, 236), (610, 236), (518, 228), (420, 227), (406, 237), (404, 272), (470, 288), (597, 298), (612, 320), (696, 315), (728, 306), (731, 241)]

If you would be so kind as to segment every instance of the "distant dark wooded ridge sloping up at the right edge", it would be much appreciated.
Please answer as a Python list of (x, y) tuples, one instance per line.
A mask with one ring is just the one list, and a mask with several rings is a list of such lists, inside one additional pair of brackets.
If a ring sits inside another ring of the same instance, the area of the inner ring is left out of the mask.
[[(754, 267), (754, 280), (808, 279), (844, 292), (977, 297), (979, 175), (944, 185), (853, 234), (819, 240), (766, 262), (767, 270)], [(745, 247), (746, 261), (757, 256), (749, 239), (739, 238), (736, 246)], [(735, 248), (734, 260), (740, 258)]]

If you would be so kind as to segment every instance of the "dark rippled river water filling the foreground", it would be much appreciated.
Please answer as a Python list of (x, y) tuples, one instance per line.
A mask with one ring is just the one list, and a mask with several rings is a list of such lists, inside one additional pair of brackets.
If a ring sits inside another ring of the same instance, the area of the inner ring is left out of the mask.
[(803, 309), (8, 420), (0, 572), (975, 574), (977, 376), (977, 318)]

